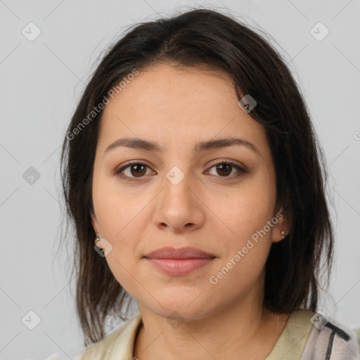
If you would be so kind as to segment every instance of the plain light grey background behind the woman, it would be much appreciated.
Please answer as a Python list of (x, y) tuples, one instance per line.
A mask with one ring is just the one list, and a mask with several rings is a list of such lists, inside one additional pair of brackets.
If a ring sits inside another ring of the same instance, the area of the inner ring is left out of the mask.
[[(200, 4), (0, 1), (0, 359), (46, 359), (54, 353), (71, 359), (81, 351), (75, 281), (68, 275), (71, 249), (56, 255), (63, 240), (59, 159), (65, 129), (96, 58), (117, 34), (127, 25)], [(305, 94), (330, 171), (336, 238), (330, 293), (323, 294), (319, 309), (349, 327), (360, 326), (360, 1), (203, 6), (243, 15), (245, 23), (271, 34)], [(31, 22), (41, 30), (33, 41), (27, 38), (36, 34)], [(326, 28), (314, 28), (319, 22), (330, 31), (323, 39)], [(31, 310), (41, 319), (34, 330), (27, 327), (36, 321)]]

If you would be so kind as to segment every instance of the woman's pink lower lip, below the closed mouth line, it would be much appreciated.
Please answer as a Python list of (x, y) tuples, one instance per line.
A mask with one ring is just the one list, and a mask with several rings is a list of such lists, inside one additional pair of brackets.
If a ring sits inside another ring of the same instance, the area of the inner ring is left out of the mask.
[(146, 259), (148, 262), (166, 274), (180, 276), (190, 274), (191, 272), (209, 264), (214, 259), (214, 257), (195, 259), (149, 259), (146, 257)]

